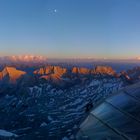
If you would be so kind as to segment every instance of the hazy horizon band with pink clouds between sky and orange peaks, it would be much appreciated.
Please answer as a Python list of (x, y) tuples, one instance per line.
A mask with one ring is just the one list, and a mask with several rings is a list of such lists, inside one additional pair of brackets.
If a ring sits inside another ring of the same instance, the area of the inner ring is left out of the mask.
[[(52, 59), (43, 56), (21, 55), (21, 56), (4, 56), (0, 57), (0, 65), (5, 66), (47, 66), (47, 65), (60, 65), (64, 67), (86, 67), (94, 68), (95, 66), (111, 66), (116, 72), (122, 70), (129, 70), (134, 67), (140, 66), (140, 61), (137, 59), (131, 60), (110, 60), (110, 59)], [(1, 68), (0, 66), (0, 68)]]

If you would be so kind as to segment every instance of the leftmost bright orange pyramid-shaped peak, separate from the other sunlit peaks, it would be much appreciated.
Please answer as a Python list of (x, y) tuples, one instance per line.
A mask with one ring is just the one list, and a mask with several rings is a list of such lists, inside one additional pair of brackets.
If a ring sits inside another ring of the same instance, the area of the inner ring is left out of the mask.
[(0, 72), (0, 80), (8, 80), (7, 82), (16, 83), (17, 79), (25, 75), (26, 72), (17, 70), (14, 67), (5, 67), (2, 72)]

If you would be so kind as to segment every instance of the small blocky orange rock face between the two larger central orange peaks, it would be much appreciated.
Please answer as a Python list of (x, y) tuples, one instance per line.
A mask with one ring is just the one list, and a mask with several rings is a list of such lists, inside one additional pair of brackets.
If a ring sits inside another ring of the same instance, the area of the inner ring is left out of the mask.
[(73, 67), (72, 73), (74, 73), (74, 74), (86, 74), (87, 75), (87, 74), (90, 74), (90, 69)]

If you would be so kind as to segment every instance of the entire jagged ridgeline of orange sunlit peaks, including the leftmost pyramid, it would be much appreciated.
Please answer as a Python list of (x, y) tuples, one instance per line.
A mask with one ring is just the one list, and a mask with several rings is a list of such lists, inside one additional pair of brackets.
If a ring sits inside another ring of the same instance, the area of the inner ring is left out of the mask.
[[(16, 69), (15, 67), (8, 67), (6, 66), (0, 72), (0, 81), (1, 83), (9, 83), (9, 84), (17, 84), (17, 81), (20, 79), (25, 80), (28, 82), (32, 80), (40, 80), (44, 79), (44, 81), (49, 81), (54, 84), (64, 84), (64, 83), (72, 83), (75, 80), (83, 80), (83, 78), (94, 78), (95, 76), (114, 76), (119, 78), (120, 76), (125, 76), (126, 79), (129, 80), (129, 76), (127, 73), (120, 73), (117, 74), (112, 67), (109, 66), (96, 66), (93, 69), (88, 69), (84, 67), (72, 67), (72, 68), (64, 68), (60, 66), (43, 66), (39, 69), (33, 70), (32, 72), (28, 73), (24, 70)], [(26, 78), (25, 78), (26, 77)], [(28, 77), (28, 78), (27, 78)], [(22, 81), (22, 83), (25, 81)]]

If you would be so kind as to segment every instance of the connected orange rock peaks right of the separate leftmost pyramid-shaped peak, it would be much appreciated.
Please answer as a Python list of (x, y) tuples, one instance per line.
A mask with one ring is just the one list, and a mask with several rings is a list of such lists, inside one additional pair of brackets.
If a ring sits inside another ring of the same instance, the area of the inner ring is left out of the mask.
[[(67, 68), (60, 66), (47, 66), (34, 71), (42, 79), (46, 79), (55, 83), (69, 79), (69, 81), (74, 80), (77, 76), (82, 78), (93, 74), (106, 74), (115, 76), (115, 71), (108, 66), (97, 66), (95, 69), (88, 69), (83, 67), (73, 67), (70, 72)], [(74, 74), (74, 75), (73, 75)], [(77, 76), (76, 76), (77, 75)], [(81, 77), (82, 76), (82, 77)]]

